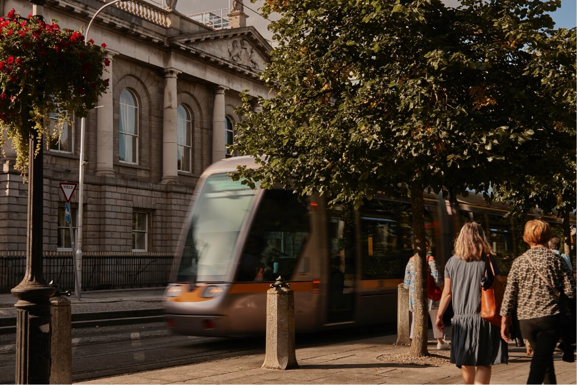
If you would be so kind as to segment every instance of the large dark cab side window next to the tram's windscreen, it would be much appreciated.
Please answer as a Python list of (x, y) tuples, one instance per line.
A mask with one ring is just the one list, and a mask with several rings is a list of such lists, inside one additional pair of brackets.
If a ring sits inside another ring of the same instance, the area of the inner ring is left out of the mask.
[(309, 238), (309, 210), (291, 190), (266, 190), (238, 264), (236, 281), (291, 279)]

